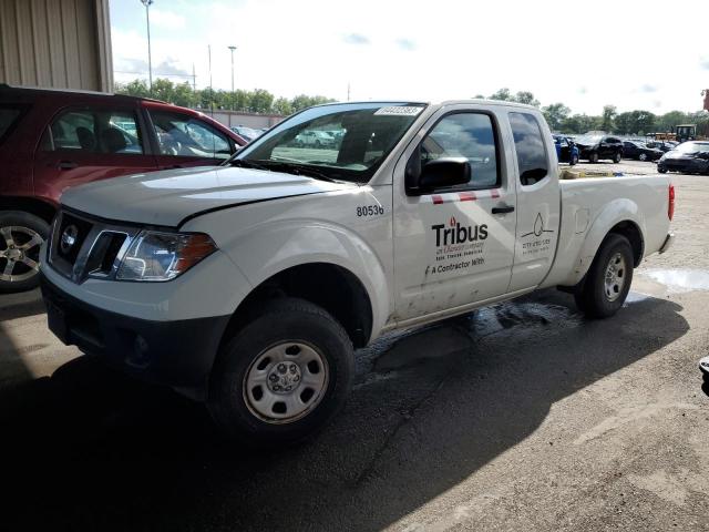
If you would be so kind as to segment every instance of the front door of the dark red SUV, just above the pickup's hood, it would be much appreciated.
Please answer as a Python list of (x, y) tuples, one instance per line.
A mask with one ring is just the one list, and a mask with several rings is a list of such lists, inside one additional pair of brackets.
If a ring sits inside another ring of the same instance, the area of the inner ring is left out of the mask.
[(147, 106), (161, 168), (217, 165), (236, 151), (233, 139), (197, 113)]

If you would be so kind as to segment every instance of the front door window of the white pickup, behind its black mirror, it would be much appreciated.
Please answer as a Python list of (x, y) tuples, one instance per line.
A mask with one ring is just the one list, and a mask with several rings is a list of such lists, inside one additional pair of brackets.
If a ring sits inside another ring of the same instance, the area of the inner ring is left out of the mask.
[(449, 114), (435, 124), (421, 143), (421, 167), (441, 157), (465, 157), (471, 166), (471, 180), (451, 190), (500, 186), (495, 137), (490, 115)]

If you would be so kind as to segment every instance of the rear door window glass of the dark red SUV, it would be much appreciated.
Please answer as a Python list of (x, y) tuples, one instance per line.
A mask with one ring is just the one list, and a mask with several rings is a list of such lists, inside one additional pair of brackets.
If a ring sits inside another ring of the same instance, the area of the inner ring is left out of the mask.
[(111, 110), (66, 110), (44, 132), (44, 151), (142, 154), (143, 142), (135, 113)]

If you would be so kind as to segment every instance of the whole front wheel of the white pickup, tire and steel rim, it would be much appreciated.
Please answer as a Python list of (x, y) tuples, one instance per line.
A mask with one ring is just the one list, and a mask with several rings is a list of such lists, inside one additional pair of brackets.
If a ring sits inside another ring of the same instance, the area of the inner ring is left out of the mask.
[(236, 440), (291, 444), (341, 409), (353, 371), (352, 344), (339, 323), (309, 301), (275, 299), (222, 349), (208, 408)]

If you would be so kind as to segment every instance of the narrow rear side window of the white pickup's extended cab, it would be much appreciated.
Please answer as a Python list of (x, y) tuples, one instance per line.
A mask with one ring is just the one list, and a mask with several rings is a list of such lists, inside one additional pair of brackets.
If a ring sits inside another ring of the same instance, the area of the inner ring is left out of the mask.
[(532, 114), (510, 113), (510, 125), (517, 153), (520, 181), (523, 185), (534, 185), (548, 175), (548, 162), (540, 123)]

